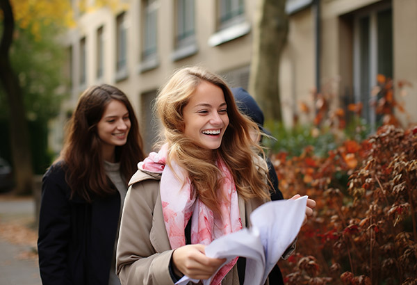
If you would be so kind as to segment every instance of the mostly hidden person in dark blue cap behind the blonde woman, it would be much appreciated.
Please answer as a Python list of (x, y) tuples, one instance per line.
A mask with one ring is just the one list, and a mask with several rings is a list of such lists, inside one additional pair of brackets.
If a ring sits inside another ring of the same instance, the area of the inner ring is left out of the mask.
[[(259, 108), (259, 105), (256, 103), (254, 97), (252, 97), (249, 92), (247, 92), (245, 89), (238, 87), (238, 88), (230, 88), (231, 92), (233, 93), (235, 99), (236, 99), (236, 105), (239, 108), (239, 111), (243, 114), (247, 115), (252, 119), (252, 121), (256, 122), (258, 124), (259, 129), (270, 136), (270, 133), (263, 127), (264, 117), (263, 112), (261, 108)], [(259, 143), (262, 142), (262, 136), (260, 138), (255, 138), (255, 140), (258, 140)], [(266, 163), (268, 165), (268, 176), (270, 179), (270, 182), (272, 184), (272, 188), (270, 189), (270, 196), (272, 201), (281, 200), (284, 199), (281, 191), (278, 187), (278, 177), (277, 172), (275, 172), (274, 165), (272, 164), (272, 161), (270, 158), (265, 158)], [(285, 255), (285, 254), (284, 254)], [(240, 261), (243, 268), (245, 266), (245, 261)], [(239, 264), (238, 264), (239, 266)], [(240, 270), (242, 272), (242, 270)], [(282, 278), (281, 270), (279, 270), (278, 265), (276, 265), (274, 268), (272, 268), (272, 271), (268, 275), (270, 284), (284, 284), (284, 280)], [(241, 277), (243, 279), (243, 277)]]

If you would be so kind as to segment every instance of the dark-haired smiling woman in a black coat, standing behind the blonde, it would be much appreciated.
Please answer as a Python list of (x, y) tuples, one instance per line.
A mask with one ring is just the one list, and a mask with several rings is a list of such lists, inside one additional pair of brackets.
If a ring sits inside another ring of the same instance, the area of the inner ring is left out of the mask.
[(115, 245), (127, 179), (145, 155), (124, 93), (103, 84), (79, 98), (59, 158), (42, 178), (42, 284), (116, 285)]

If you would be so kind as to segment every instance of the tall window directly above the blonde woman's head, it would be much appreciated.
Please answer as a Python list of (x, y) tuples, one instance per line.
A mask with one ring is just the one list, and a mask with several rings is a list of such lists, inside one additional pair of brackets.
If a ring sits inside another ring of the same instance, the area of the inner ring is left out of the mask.
[(197, 53), (195, 0), (177, 0), (175, 5), (175, 50), (172, 60), (179, 60)]

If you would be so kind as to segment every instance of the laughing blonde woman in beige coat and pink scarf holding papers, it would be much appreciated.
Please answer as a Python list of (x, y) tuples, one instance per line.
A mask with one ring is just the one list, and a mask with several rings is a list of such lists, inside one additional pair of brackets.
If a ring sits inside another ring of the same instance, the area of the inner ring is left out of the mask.
[[(247, 227), (270, 200), (263, 150), (251, 139), (259, 127), (219, 76), (200, 67), (175, 72), (156, 111), (165, 140), (139, 163), (122, 215), (116, 262), (124, 285), (208, 279), (225, 260), (206, 257), (205, 245)], [(240, 284), (242, 270), (236, 257), (211, 284)]]

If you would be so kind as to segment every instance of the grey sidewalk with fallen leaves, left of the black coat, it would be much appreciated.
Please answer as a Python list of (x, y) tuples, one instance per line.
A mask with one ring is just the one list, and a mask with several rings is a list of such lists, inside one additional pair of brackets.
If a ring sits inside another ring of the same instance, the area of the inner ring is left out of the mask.
[(32, 197), (0, 194), (0, 285), (41, 285)]

